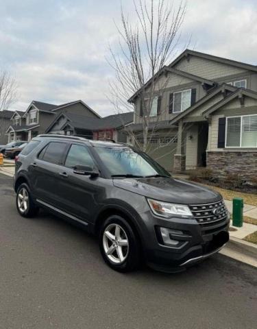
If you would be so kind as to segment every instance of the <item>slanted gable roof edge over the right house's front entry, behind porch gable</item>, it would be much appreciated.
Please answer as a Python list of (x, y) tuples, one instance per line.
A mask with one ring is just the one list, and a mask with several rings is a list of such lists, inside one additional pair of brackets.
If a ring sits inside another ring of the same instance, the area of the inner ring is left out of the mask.
[(225, 91), (228, 91), (229, 93), (234, 93), (236, 89), (238, 88), (231, 86), (230, 84), (221, 84), (221, 86), (217, 86), (217, 88), (213, 89), (206, 96), (199, 99), (199, 101), (197, 101), (195, 104), (190, 106), (190, 108), (187, 108), (186, 110), (178, 114), (175, 118), (171, 119), (169, 123), (171, 124), (177, 123), (180, 119), (182, 119), (189, 113), (193, 112), (193, 110), (203, 105), (206, 101), (210, 100), (212, 97), (215, 97), (218, 93), (224, 93)]

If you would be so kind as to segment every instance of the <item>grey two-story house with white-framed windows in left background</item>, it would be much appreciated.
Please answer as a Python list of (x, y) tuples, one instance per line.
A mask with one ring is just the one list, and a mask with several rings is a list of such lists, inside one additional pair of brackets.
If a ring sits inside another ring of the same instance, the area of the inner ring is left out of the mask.
[(100, 118), (92, 108), (81, 100), (61, 105), (32, 101), (25, 112), (12, 112), (11, 124), (6, 131), (8, 141), (30, 141), (34, 136), (44, 134), (47, 127), (62, 112), (83, 115), (88, 118)]

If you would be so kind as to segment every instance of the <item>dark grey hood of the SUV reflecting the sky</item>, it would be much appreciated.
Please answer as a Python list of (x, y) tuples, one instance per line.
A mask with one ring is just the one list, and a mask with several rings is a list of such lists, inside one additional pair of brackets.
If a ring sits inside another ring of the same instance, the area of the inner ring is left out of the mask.
[(113, 180), (114, 186), (152, 199), (177, 204), (217, 202), (221, 195), (199, 184), (173, 178), (123, 178)]

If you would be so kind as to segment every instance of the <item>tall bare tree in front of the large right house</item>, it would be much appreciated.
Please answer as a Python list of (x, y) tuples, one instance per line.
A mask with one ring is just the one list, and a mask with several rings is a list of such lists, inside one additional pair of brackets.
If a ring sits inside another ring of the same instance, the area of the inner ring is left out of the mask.
[[(157, 91), (161, 96), (160, 90), (164, 90), (169, 82), (169, 75), (163, 73), (178, 47), (186, 4), (182, 1), (176, 8), (171, 0), (133, 1), (132, 21), (121, 7), (121, 27), (117, 26), (119, 51), (110, 47), (112, 60), (109, 62), (116, 73), (115, 81), (110, 82), (110, 91), (111, 101), (120, 113), (134, 110), (127, 99), (139, 90), (140, 113), (135, 112), (135, 116), (140, 116), (142, 123), (140, 143), (132, 130), (127, 129), (127, 133), (137, 147), (147, 151), (160, 117), (152, 121), (151, 109), (156, 102)], [(156, 108), (156, 103), (154, 106)]]

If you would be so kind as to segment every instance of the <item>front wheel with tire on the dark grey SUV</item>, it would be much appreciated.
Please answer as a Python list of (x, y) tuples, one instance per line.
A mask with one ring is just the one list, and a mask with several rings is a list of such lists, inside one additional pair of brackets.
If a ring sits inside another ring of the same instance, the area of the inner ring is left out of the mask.
[(103, 260), (115, 271), (128, 272), (140, 263), (140, 243), (127, 221), (112, 215), (106, 219), (99, 234)]

